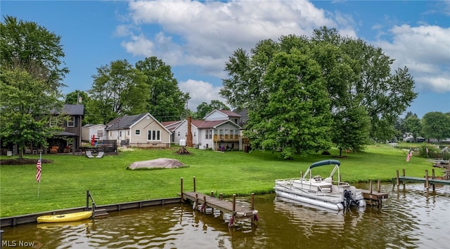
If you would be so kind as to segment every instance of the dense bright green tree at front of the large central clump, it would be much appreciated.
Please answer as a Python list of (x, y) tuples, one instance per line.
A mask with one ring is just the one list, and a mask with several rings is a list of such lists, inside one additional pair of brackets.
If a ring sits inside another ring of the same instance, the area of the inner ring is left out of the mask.
[(249, 112), (245, 135), (283, 158), (330, 147), (330, 100), (319, 65), (300, 51), (277, 53), (264, 76), (267, 105)]

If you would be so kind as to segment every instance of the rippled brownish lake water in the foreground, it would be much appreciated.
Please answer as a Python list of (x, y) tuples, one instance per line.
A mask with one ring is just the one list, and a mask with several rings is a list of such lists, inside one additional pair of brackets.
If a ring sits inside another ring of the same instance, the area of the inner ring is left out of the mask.
[[(241, 221), (229, 228), (229, 215), (203, 215), (181, 204), (94, 221), (24, 224), (3, 228), (3, 248), (20, 242), (34, 248), (448, 248), (450, 186), (427, 194), (423, 184), (383, 184), (382, 191), (389, 193), (383, 208), (341, 213), (255, 196), (259, 222), (253, 227)], [(238, 201), (250, 205), (249, 198)]]

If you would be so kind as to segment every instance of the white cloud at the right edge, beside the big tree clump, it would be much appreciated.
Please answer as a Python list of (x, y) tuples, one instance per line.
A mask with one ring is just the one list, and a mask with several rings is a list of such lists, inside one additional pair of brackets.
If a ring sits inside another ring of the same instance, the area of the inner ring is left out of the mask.
[(394, 58), (393, 67), (408, 67), (418, 90), (450, 92), (450, 28), (409, 25), (390, 29), (392, 41), (375, 46)]

